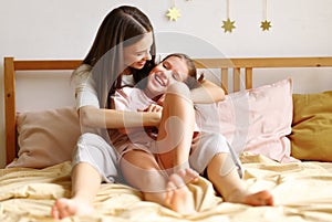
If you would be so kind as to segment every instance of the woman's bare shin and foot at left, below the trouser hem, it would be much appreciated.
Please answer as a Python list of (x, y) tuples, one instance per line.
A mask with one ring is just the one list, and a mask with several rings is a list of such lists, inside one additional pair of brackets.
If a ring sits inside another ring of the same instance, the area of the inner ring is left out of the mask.
[(52, 216), (63, 219), (91, 213), (100, 186), (100, 173), (89, 163), (77, 163), (72, 170), (72, 198), (58, 199), (51, 211)]

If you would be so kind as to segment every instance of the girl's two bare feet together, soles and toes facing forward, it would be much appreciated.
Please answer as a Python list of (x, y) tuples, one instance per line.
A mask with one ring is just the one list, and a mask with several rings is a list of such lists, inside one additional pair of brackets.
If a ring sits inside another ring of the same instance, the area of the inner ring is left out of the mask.
[(191, 169), (179, 170), (169, 177), (165, 203), (172, 210), (190, 214), (196, 212), (193, 193), (187, 188), (188, 182), (196, 182), (198, 173)]

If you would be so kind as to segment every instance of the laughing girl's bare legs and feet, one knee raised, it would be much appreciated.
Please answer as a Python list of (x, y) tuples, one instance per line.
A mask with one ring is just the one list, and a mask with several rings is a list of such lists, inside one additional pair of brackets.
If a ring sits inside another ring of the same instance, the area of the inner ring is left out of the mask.
[[(152, 154), (135, 149), (127, 151), (121, 161), (123, 176), (131, 186), (143, 191), (145, 200), (183, 214), (195, 212), (194, 197), (186, 183), (198, 177), (190, 169), (179, 170), (181, 166), (188, 165), (195, 125), (194, 106), (189, 96), (190, 92), (183, 83), (175, 83), (167, 89), (157, 149), (153, 150), (157, 152), (159, 161)], [(173, 167), (176, 170), (170, 169)]]

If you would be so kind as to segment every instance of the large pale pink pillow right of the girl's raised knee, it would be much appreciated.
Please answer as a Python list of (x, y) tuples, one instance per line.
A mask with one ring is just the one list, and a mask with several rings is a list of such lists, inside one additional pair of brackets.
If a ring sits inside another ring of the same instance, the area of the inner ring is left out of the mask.
[[(198, 105), (203, 130), (220, 131), (237, 154), (249, 151), (279, 162), (298, 161), (290, 156), (292, 81), (232, 93), (224, 102)], [(218, 116), (216, 120), (216, 116)]]

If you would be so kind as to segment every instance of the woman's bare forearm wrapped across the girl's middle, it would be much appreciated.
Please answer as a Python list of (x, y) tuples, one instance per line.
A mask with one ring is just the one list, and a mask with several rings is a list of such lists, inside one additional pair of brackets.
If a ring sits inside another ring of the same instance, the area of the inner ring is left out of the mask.
[(108, 129), (158, 126), (162, 118), (162, 114), (155, 112), (122, 112), (94, 106), (81, 107), (79, 115), (82, 126)]

